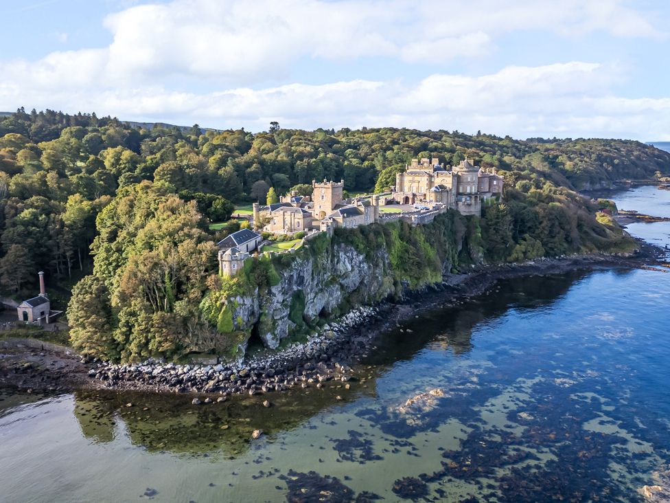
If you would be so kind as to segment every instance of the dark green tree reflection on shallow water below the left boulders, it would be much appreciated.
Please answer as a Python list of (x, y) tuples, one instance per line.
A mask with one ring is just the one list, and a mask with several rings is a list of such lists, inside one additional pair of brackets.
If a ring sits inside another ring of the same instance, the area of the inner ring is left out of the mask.
[[(362, 388), (356, 394), (345, 394), (332, 385), (320, 390), (234, 396), (220, 403), (218, 395), (213, 395), (213, 403), (193, 405), (192, 395), (79, 391), (74, 394), (74, 416), (82, 434), (95, 443), (111, 442), (124, 432), (132, 444), (148, 451), (238, 456), (248, 449), (255, 429), (272, 437), (365, 392)], [(336, 399), (339, 395), (341, 400)], [(270, 407), (263, 405), (266, 400)]]

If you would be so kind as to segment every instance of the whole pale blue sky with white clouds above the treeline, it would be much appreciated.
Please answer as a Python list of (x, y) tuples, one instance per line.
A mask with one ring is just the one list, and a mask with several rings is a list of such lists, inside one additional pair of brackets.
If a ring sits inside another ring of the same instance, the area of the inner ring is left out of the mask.
[(667, 0), (0, 0), (0, 111), (670, 140)]

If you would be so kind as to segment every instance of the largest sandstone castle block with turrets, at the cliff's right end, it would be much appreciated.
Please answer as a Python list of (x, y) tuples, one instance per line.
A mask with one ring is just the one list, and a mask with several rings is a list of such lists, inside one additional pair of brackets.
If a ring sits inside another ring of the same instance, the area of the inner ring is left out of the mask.
[(393, 199), (400, 204), (442, 204), (463, 214), (481, 214), (481, 202), (502, 194), (502, 177), (467, 159), (447, 168), (439, 159), (413, 159), (395, 175)]

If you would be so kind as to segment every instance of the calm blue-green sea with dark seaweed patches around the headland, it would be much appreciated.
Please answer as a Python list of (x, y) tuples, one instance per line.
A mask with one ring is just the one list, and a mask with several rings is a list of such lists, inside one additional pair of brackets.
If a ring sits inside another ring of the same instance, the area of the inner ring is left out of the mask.
[[(615, 199), (670, 216), (670, 192)], [(5, 396), (0, 500), (634, 501), (670, 462), (669, 298), (657, 271), (503, 282), (386, 334), (350, 390), (270, 395), (270, 408)], [(250, 442), (256, 428), (266, 435)]]

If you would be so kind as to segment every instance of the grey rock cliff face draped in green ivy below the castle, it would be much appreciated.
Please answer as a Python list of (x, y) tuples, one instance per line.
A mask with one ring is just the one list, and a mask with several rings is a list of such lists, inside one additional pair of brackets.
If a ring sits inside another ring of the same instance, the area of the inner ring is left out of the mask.
[(290, 254), (249, 259), (240, 276), (209, 293), (205, 314), (233, 339), (231, 357), (244, 355), (252, 336), (277, 348), (284, 337), (310, 331), (320, 320), (439, 282), (459, 256), (471, 262), (463, 222), (454, 212), (417, 227), (338, 230)]

